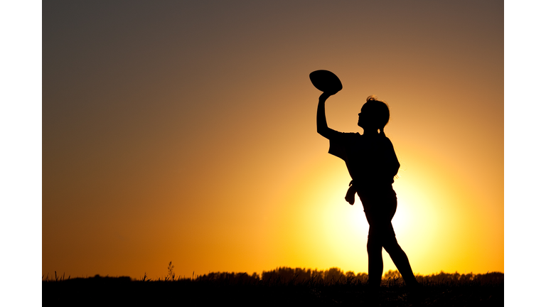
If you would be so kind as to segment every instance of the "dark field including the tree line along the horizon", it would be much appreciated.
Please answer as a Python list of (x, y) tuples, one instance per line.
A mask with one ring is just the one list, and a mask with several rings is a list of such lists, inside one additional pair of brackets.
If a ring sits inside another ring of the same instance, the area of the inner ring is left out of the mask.
[[(419, 289), (408, 289), (397, 271), (385, 274), (382, 286), (370, 288), (366, 274), (339, 269), (311, 271), (278, 268), (262, 276), (210, 273), (192, 279), (172, 272), (163, 279), (129, 277), (42, 281), (45, 306), (503, 306), (504, 275), (446, 274), (417, 276)], [(174, 277), (174, 279), (173, 279)], [(336, 278), (337, 277), (337, 278)]]

